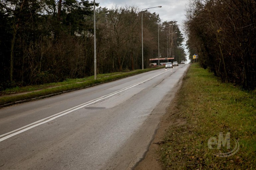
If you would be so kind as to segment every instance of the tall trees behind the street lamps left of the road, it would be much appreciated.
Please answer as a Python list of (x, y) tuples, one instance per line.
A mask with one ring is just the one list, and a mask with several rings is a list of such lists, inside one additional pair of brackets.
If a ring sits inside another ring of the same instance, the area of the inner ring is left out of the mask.
[[(93, 2), (1, 0), (0, 19), (0, 90), (94, 74)], [(161, 57), (185, 60), (176, 22), (160, 23), (143, 11), (144, 68), (158, 57), (158, 30)], [(97, 8), (97, 73), (141, 69), (141, 36), (137, 7)]]

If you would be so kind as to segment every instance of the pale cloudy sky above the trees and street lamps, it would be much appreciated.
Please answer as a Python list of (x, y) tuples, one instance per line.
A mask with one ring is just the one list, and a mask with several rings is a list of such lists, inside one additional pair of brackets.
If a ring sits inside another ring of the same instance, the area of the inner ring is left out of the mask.
[(111, 9), (116, 5), (121, 6), (135, 6), (140, 10), (145, 8), (162, 6), (162, 8), (149, 9), (151, 13), (156, 12), (162, 22), (164, 21), (178, 21), (182, 25), (185, 19), (185, 8), (188, 0), (95, 0), (101, 7)]

